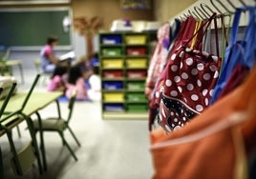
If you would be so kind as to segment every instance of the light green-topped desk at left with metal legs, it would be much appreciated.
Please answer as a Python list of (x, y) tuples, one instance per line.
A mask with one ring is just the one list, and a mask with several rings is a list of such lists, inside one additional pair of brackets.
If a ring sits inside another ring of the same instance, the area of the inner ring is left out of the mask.
[[(31, 116), (32, 114), (36, 114), (38, 117), (38, 120), (41, 120), (40, 114), (38, 110), (44, 109), (54, 101), (56, 102), (57, 105), (57, 112), (58, 115), (60, 115), (60, 108), (59, 108), (59, 103), (57, 99), (62, 95), (62, 92), (37, 92), (34, 91), (32, 92), (32, 95), (25, 107), (23, 109), (23, 113), (27, 116)], [(7, 108), (5, 111), (15, 111), (20, 109), (21, 104), (23, 103), (27, 93), (26, 92), (17, 92), (13, 96), (11, 96), (10, 102), (7, 105)], [(4, 100), (0, 101), (0, 106), (2, 106), (4, 103)], [(18, 116), (12, 116), (11, 118), (5, 120), (5, 121), (0, 121), (2, 125), (5, 125), (8, 129), (12, 129), (16, 127), (18, 124), (20, 124), (22, 121), (24, 121), (24, 118), (20, 118)], [(0, 130), (0, 136), (5, 134), (4, 130)], [(42, 132), (40, 132), (40, 140), (41, 140), (41, 154), (42, 154), (42, 159), (43, 159), (43, 166), (44, 169), (47, 169), (47, 164), (46, 164), (46, 156), (45, 156), (45, 149), (44, 149), (44, 140), (43, 140), (43, 135)]]

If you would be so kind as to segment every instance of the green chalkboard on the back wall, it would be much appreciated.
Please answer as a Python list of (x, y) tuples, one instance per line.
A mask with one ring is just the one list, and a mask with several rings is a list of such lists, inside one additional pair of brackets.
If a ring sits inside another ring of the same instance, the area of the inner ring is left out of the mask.
[(71, 46), (71, 32), (62, 26), (65, 16), (71, 16), (69, 9), (0, 10), (0, 45), (40, 47), (49, 35), (55, 35), (60, 47)]

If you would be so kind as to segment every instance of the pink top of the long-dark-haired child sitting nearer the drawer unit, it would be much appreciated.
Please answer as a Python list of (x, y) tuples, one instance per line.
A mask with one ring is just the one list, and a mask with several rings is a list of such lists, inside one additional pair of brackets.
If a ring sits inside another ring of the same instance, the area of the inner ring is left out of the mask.
[(84, 79), (82, 77), (80, 77), (76, 80), (75, 85), (68, 83), (66, 85), (66, 87), (67, 87), (66, 96), (68, 98), (71, 98), (72, 91), (75, 89), (76, 90), (76, 99), (82, 99), (82, 100), (88, 99), (87, 89), (84, 86)]

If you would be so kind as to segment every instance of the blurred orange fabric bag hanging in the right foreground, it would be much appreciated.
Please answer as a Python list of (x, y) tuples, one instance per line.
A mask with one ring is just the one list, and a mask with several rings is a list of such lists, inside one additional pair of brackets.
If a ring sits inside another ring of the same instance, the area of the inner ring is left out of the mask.
[(183, 128), (152, 130), (154, 179), (247, 178), (256, 146), (256, 69)]

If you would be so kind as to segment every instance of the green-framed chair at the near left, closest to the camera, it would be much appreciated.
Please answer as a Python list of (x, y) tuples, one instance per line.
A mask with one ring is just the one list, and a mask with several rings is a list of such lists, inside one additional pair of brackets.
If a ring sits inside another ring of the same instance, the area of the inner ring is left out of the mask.
[[(8, 96), (5, 98), (5, 101), (0, 109), (0, 117), (3, 116), (3, 117), (1, 117), (1, 120), (0, 120), (0, 122), (1, 122), (0, 129), (5, 131), (5, 133), (8, 136), (8, 139), (9, 139), (11, 152), (12, 152), (12, 158), (11, 158), (12, 165), (11, 166), (12, 166), (12, 169), (14, 170), (14, 173), (17, 175), (20, 175), (20, 176), (22, 176), (23, 173), (27, 169), (29, 169), (29, 167), (32, 167), (35, 157), (37, 159), (39, 171), (40, 171), (40, 173), (42, 173), (40, 153), (39, 153), (39, 149), (37, 146), (35, 133), (32, 128), (32, 120), (29, 116), (27, 116), (23, 113), (23, 109), (25, 109), (27, 102), (29, 101), (29, 99), (31, 97), (32, 90), (34, 89), (35, 85), (37, 84), (39, 77), (40, 77), (40, 75), (37, 74), (36, 77), (34, 78), (32, 87), (29, 90), (28, 94), (26, 95), (20, 109), (17, 109), (16, 111), (6, 111), (5, 110), (9, 103), (9, 100), (11, 98), (11, 95), (13, 93), (13, 90), (15, 89), (16, 84), (13, 84), (13, 86), (11, 87), (11, 90), (10, 90)], [(8, 120), (9, 118), (11, 118), (13, 116), (17, 116), (17, 115), (20, 116), (20, 118), (24, 118), (26, 120), (28, 128), (30, 129), (30, 133), (32, 136), (32, 144), (29, 144), (28, 146), (26, 146), (26, 148), (22, 149), (19, 152), (17, 152), (15, 149), (15, 145), (14, 145), (14, 142), (11, 137), (11, 129), (9, 129), (7, 126), (3, 125), (4, 121)]]

